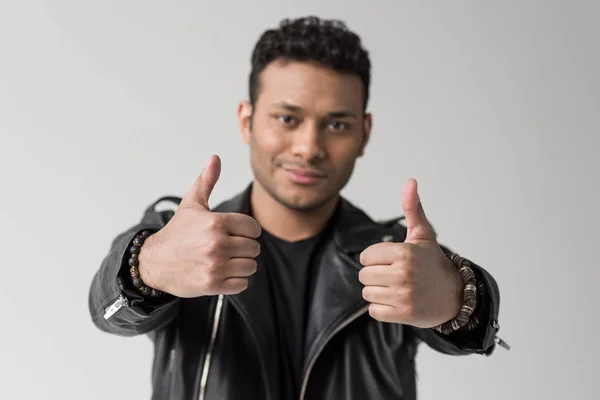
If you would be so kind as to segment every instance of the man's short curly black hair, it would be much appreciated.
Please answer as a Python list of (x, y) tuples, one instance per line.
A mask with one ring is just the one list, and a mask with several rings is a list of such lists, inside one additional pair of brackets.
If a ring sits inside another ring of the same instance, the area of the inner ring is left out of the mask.
[(279, 60), (314, 62), (339, 73), (358, 75), (363, 84), (366, 110), (371, 61), (360, 37), (343, 21), (315, 16), (284, 19), (277, 29), (265, 31), (252, 52), (249, 78), (252, 105), (258, 97), (260, 73), (271, 62)]

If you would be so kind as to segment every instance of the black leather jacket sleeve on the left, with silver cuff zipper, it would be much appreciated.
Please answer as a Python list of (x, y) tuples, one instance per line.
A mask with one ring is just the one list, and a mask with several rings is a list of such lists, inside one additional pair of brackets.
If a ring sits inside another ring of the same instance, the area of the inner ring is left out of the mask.
[[(165, 199), (165, 198), (163, 198)], [(179, 299), (166, 294), (146, 300), (128, 283), (127, 253), (133, 238), (144, 230), (162, 229), (174, 212), (155, 210), (157, 200), (145, 211), (141, 221), (118, 235), (96, 272), (89, 291), (89, 310), (94, 324), (102, 331), (134, 336), (153, 333), (177, 315)]]

